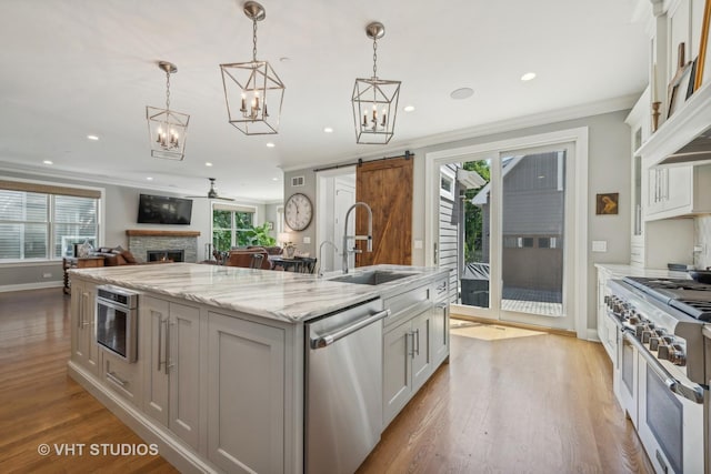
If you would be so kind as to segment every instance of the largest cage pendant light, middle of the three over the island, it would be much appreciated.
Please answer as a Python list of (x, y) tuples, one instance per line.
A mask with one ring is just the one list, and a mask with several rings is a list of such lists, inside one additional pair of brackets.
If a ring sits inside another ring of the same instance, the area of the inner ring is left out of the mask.
[(268, 61), (257, 60), (257, 22), (267, 16), (256, 1), (243, 6), (252, 20), (252, 60), (220, 64), (229, 122), (247, 135), (279, 131), (284, 84)]

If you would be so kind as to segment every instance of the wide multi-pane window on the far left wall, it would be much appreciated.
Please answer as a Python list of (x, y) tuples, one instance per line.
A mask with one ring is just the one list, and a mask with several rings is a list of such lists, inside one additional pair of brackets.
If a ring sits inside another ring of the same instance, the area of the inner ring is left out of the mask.
[[(78, 195), (73, 195), (78, 194)], [(0, 262), (73, 255), (97, 244), (99, 191), (0, 181)]]

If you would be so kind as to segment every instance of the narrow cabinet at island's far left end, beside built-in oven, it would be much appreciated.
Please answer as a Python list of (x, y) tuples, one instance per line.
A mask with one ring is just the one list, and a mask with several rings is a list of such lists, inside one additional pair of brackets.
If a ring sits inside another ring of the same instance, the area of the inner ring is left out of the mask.
[(99, 345), (96, 337), (96, 285), (72, 282), (71, 292), (71, 360), (99, 375)]

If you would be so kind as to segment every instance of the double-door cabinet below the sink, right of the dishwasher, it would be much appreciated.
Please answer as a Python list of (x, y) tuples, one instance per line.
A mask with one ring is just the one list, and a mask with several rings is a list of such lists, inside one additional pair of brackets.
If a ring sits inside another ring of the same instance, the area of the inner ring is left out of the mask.
[(383, 426), (432, 374), (430, 307), (383, 334)]

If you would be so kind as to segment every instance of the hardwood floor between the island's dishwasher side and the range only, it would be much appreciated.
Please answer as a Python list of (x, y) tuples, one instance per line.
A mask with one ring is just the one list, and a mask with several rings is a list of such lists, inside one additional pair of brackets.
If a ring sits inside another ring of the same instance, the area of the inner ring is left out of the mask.
[(360, 466), (365, 473), (652, 473), (601, 344), (452, 335), (441, 366)]

